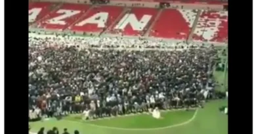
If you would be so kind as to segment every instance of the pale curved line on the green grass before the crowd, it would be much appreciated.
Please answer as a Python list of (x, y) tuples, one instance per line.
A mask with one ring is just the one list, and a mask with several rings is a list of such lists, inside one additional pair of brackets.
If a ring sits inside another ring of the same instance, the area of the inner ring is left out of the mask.
[[(192, 122), (195, 118), (196, 118), (196, 115), (198, 114), (198, 109), (196, 109), (196, 111), (194, 112), (194, 115), (192, 116), (192, 118), (190, 118), (190, 120), (187, 120), (186, 122), (182, 122), (181, 124), (176, 124), (176, 125), (171, 125), (171, 126), (166, 126), (166, 127), (156, 127), (156, 128), (144, 128), (144, 129), (128, 129), (128, 128), (119, 128), (119, 127), (108, 127), (108, 126), (98, 126), (98, 125), (95, 125), (95, 124), (89, 124), (89, 123), (86, 123), (88, 126), (93, 126), (93, 127), (101, 127), (101, 128), (106, 128), (106, 129), (116, 129), (116, 130), (136, 130), (136, 131), (146, 131), (146, 130), (159, 130), (159, 129), (169, 129), (169, 128), (172, 128), (172, 127), (179, 127), (179, 126), (184, 126), (186, 124), (189, 124), (190, 122)], [(120, 116), (121, 117), (121, 116)], [(85, 124), (85, 122), (78, 122), (78, 121), (73, 121), (73, 120), (66, 120), (68, 122), (74, 122), (74, 123), (79, 123), (79, 124)]]

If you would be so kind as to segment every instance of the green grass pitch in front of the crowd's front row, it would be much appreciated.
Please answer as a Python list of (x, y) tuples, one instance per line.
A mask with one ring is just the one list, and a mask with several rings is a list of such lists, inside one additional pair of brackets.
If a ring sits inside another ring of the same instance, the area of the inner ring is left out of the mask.
[(77, 129), (81, 134), (227, 134), (228, 116), (219, 112), (219, 107), (223, 105), (227, 105), (226, 99), (209, 101), (203, 109), (162, 112), (162, 119), (152, 118), (148, 114), (136, 114), (83, 121), (81, 116), (72, 115), (62, 120), (31, 122), (30, 126), (32, 133), (36, 133), (40, 127), (45, 129), (58, 127), (62, 133), (66, 127), (70, 133)]

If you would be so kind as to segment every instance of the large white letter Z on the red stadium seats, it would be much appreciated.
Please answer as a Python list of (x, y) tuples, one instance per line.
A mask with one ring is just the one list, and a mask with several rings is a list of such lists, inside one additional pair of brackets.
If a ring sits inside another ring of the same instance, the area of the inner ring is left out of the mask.
[(70, 18), (71, 16), (74, 16), (76, 14), (79, 14), (81, 10), (66, 10), (66, 9), (60, 9), (56, 13), (62, 14), (60, 16), (57, 16), (55, 18), (52, 18), (47, 21), (47, 24), (58, 24), (58, 25), (66, 25), (66, 22), (63, 21), (66, 18)]

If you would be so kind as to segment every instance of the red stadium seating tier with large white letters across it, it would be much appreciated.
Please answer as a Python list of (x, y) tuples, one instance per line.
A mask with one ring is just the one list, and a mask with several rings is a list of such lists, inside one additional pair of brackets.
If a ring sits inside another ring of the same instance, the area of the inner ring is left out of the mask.
[[(159, 14), (159, 16), (158, 16)], [(70, 31), (143, 36), (194, 41), (225, 42), (228, 39), (228, 12), (202, 11), (191, 31), (198, 10), (124, 8), (71, 3), (30, 3), (29, 22), (37, 27)], [(158, 16), (158, 17), (156, 17)], [(154, 22), (154, 23), (153, 23)], [(149, 29), (151, 27), (151, 29)]]

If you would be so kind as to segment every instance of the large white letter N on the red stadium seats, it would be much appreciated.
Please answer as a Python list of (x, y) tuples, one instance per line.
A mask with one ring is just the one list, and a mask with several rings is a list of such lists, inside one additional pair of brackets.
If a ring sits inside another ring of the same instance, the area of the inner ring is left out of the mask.
[(138, 20), (135, 14), (125, 14), (116, 25), (115, 29), (125, 29), (125, 27), (130, 24), (133, 30), (142, 31), (151, 18), (151, 15), (143, 15), (142, 18)]

